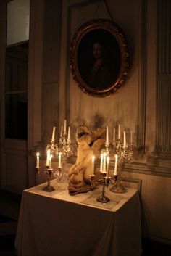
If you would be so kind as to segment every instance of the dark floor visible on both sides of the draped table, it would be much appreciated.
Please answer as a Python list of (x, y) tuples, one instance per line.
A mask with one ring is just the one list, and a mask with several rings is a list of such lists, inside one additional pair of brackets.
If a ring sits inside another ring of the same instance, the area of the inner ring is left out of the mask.
[[(14, 239), (17, 232), (20, 202), (20, 196), (0, 190), (0, 256), (17, 256)], [(143, 238), (142, 248), (141, 256), (171, 256), (171, 245), (169, 244)]]

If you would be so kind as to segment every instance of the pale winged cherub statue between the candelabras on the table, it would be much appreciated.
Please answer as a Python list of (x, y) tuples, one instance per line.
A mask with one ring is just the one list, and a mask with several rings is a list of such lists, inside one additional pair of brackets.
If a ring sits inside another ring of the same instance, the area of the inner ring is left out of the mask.
[(79, 128), (82, 132), (76, 136), (78, 142), (77, 160), (68, 171), (70, 195), (91, 190), (92, 156), (95, 159), (99, 158), (101, 146), (105, 141), (101, 138), (101, 135), (106, 131), (106, 128), (97, 128), (94, 132), (91, 132), (86, 125), (80, 125)]

